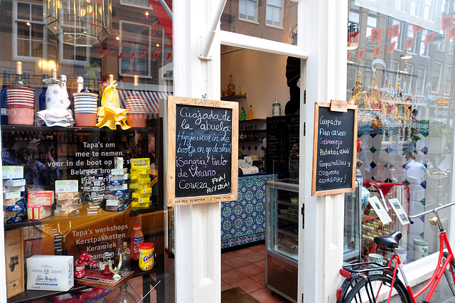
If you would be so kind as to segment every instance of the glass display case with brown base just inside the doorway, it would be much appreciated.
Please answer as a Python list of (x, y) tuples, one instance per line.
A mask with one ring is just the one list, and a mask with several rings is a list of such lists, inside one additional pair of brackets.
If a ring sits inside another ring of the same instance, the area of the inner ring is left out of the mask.
[(265, 186), (265, 285), (297, 302), (299, 183), (283, 179)]

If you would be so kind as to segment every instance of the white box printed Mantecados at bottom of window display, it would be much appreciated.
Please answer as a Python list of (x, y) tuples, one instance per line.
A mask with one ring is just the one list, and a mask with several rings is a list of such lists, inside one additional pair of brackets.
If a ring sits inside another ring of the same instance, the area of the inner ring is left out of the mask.
[(66, 292), (73, 286), (72, 255), (33, 255), (27, 259), (27, 289)]

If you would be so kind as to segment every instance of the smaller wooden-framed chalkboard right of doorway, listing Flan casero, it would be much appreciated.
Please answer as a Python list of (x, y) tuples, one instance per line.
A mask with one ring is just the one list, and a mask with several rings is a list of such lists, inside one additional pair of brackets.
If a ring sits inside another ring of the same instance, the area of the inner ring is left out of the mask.
[(341, 111), (316, 102), (314, 110), (313, 180), (311, 196), (348, 193), (355, 189), (357, 106), (346, 101)]

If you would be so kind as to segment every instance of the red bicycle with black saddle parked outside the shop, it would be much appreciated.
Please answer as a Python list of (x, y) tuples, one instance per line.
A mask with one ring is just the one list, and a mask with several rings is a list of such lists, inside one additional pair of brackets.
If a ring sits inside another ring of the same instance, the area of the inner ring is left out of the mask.
[[(431, 211), (425, 211), (414, 216), (408, 216), (410, 223), (414, 223), (412, 218), (418, 218), (428, 213), (434, 213), (434, 217), (429, 220), (429, 223), (437, 225), (439, 228), (439, 259), (438, 266), (434, 269), (432, 277), (426, 285), (417, 292), (412, 292), (412, 289), (407, 282), (405, 271), (402, 267), (402, 262), (398, 256), (396, 248), (402, 237), (400, 231), (391, 233), (390, 235), (380, 235), (375, 238), (375, 243), (383, 250), (391, 251), (393, 256), (383, 266), (377, 262), (361, 262), (351, 265), (345, 265), (340, 270), (340, 274), (346, 278), (341, 288), (337, 290), (338, 303), (350, 302), (406, 302), (417, 303), (416, 298), (425, 290), (429, 289), (424, 302), (429, 302), (432, 298), (442, 275), (446, 276), (447, 282), (455, 296), (455, 260), (454, 253), (451, 250), (449, 239), (447, 238), (446, 230), (441, 225), (438, 211), (442, 208), (453, 206), (455, 201), (444, 206), (433, 208)], [(397, 272), (400, 271), (403, 277), (403, 282), (397, 277)]]

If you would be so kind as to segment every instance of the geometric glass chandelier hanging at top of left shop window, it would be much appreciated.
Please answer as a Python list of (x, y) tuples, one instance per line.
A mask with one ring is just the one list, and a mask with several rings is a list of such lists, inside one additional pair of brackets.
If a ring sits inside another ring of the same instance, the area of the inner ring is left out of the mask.
[(59, 40), (94, 46), (112, 31), (112, 0), (44, 0), (45, 23)]

